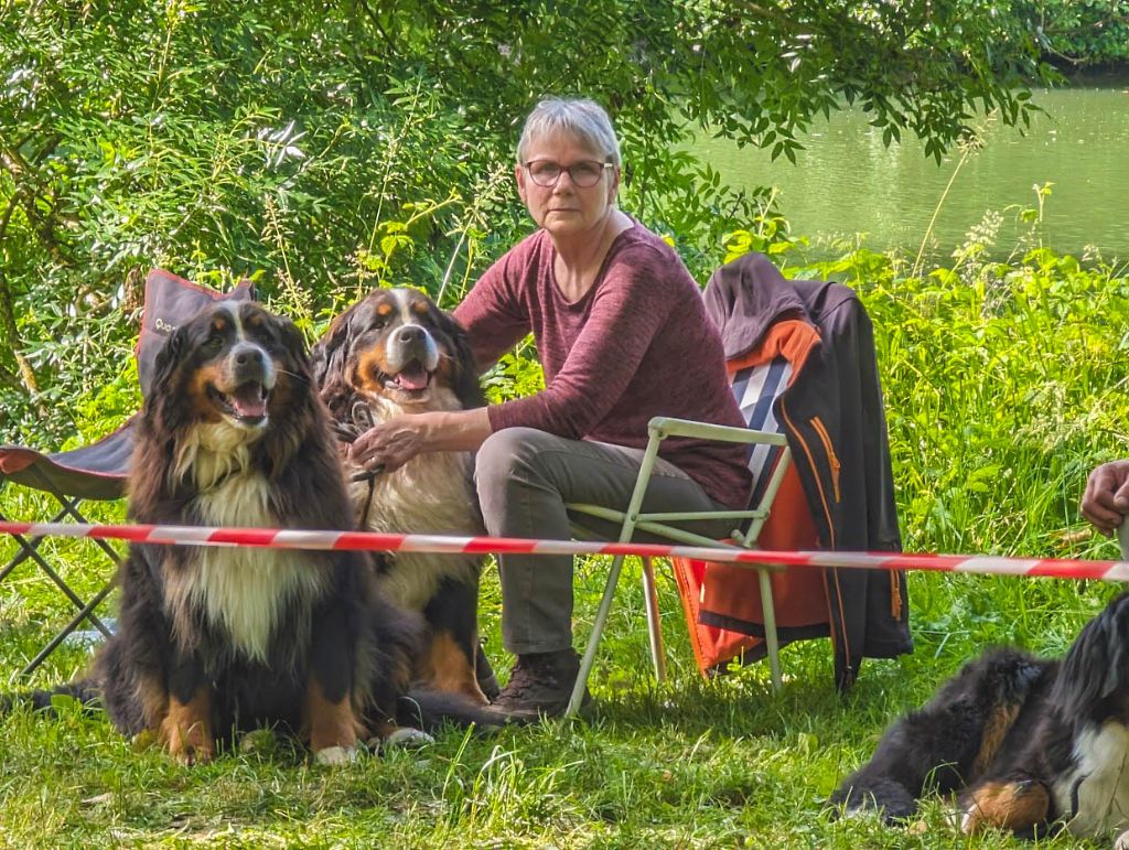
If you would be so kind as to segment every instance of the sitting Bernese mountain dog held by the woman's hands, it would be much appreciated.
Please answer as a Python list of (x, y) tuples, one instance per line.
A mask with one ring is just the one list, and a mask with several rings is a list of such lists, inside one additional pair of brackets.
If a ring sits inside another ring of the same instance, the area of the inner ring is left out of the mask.
[[(423, 292), (377, 289), (339, 315), (312, 351), (339, 437), (356, 439), (404, 413), (485, 403), (463, 328)], [(350, 466), (359, 527), (386, 533), (480, 535), (469, 453), (419, 455), (393, 472)], [(413, 681), (479, 704), (497, 682), (478, 642), (479, 555), (397, 552), (382, 592), (428, 624)]]

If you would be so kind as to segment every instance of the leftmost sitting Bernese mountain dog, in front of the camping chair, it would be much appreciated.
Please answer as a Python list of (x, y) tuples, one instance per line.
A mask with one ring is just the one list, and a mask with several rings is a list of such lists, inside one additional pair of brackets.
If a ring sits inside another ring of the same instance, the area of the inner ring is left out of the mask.
[[(220, 303), (169, 338), (154, 386), (132, 522), (351, 525), (331, 421), (290, 322)], [(133, 544), (119, 631), (88, 680), (55, 692), (99, 699), (121, 731), (148, 730), (184, 763), (262, 726), (300, 735), (318, 761), (348, 761), (359, 738), (409, 731), (397, 711), (419, 702), (401, 698), (423, 623), (385, 601), (377, 572), (362, 553)]]

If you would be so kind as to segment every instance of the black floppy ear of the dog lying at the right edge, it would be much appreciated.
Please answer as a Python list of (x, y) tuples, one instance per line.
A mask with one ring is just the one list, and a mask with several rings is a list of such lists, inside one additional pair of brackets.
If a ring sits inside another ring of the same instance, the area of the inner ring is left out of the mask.
[[(1102, 720), (1109, 698), (1129, 690), (1129, 594), (1121, 594), (1083, 628), (1059, 671), (1051, 701), (1067, 722)], [(1124, 700), (1118, 700), (1119, 703)]]

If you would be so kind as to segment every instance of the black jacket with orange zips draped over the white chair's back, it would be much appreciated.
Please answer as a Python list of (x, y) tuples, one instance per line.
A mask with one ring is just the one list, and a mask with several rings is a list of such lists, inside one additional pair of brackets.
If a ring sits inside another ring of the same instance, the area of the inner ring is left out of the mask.
[[(729, 360), (753, 350), (779, 319), (815, 325), (821, 342), (777, 398), (774, 413), (820, 544), (901, 551), (874, 333), (855, 291), (840, 283), (785, 280), (767, 257), (746, 254), (715, 272), (704, 298)], [(840, 690), (854, 683), (864, 657), (913, 650), (904, 573), (830, 568), (825, 582)]]

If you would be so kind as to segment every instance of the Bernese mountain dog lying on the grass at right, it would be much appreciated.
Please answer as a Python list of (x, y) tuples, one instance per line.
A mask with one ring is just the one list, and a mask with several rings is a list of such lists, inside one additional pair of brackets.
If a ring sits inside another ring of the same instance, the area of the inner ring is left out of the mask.
[(1062, 660), (992, 649), (898, 720), (830, 804), (911, 817), (928, 790), (955, 794), (961, 829), (1087, 838), (1129, 827), (1129, 594)]

